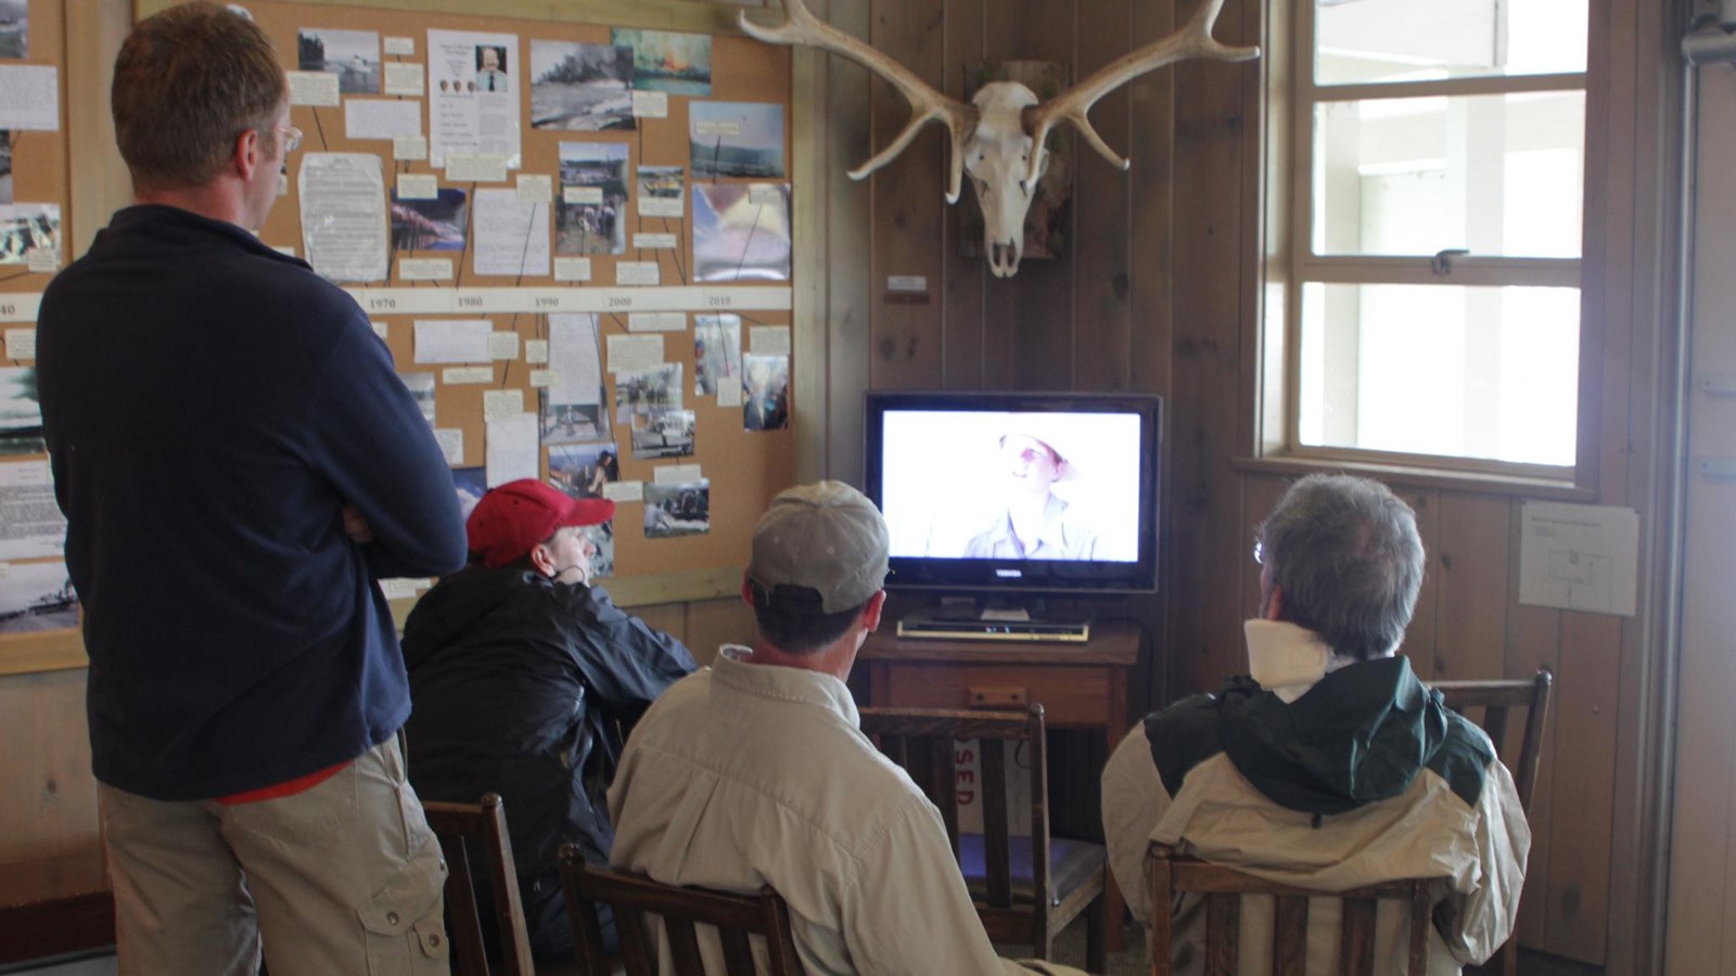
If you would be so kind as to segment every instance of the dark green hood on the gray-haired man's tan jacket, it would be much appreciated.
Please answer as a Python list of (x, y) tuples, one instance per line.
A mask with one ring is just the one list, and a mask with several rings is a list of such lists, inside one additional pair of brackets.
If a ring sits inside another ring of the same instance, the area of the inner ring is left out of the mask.
[(1448, 738), (1441, 693), (1403, 656), (1342, 667), (1292, 703), (1226, 698), (1217, 740), (1236, 769), (1290, 809), (1335, 814), (1403, 794)]

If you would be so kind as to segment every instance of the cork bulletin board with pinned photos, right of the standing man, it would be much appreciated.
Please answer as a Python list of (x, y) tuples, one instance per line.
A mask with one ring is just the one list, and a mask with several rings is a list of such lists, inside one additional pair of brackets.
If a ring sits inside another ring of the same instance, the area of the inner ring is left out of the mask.
[(245, 7), (304, 134), (260, 238), (356, 295), (460, 486), (615, 497), (623, 603), (734, 592), (795, 479), (788, 49), (712, 3)]

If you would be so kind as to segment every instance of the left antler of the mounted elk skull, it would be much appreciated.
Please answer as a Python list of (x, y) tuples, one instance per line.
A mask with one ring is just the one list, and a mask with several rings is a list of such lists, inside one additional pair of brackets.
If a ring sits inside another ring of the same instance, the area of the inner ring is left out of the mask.
[(741, 30), (766, 43), (804, 43), (821, 50), (830, 50), (832, 54), (842, 54), (844, 57), (849, 57), (851, 61), (885, 78), (910, 102), (910, 123), (904, 125), (904, 130), (899, 132), (898, 139), (882, 149), (880, 155), (854, 170), (849, 170), (851, 179), (863, 179), (877, 168), (891, 163), (899, 153), (904, 151), (906, 146), (910, 146), (911, 139), (917, 137), (917, 132), (922, 130), (924, 125), (939, 122), (946, 125), (948, 132), (951, 132), (953, 144), (951, 177), (946, 184), (946, 201), (957, 203), (958, 189), (963, 186), (965, 137), (976, 123), (976, 108), (930, 89), (927, 82), (918, 78), (898, 61), (892, 61), (885, 54), (880, 54), (854, 36), (821, 21), (807, 10), (807, 3), (802, 0), (785, 0), (783, 9), (788, 17), (776, 28), (755, 24), (748, 19), (746, 10), (743, 10), (740, 14)]

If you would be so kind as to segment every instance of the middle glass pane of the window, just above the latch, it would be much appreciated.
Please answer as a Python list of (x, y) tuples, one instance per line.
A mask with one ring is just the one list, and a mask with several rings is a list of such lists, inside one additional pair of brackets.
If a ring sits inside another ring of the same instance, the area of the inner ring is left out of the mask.
[(1578, 257), (1585, 94), (1314, 106), (1314, 254)]

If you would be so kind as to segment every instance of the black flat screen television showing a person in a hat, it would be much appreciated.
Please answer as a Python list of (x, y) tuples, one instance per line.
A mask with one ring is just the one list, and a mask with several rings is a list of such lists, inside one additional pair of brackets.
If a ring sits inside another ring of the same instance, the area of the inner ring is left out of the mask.
[(868, 392), (887, 589), (1154, 592), (1161, 429), (1156, 396)]

